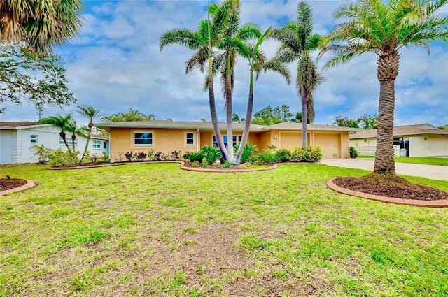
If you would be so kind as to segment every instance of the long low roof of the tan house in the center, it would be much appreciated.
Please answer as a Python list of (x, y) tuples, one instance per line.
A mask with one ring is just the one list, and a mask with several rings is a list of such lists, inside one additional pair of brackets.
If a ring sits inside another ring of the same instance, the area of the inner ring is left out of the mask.
[[(218, 123), (221, 130), (227, 128), (226, 123)], [(233, 131), (243, 131), (244, 123), (233, 123)], [(200, 129), (202, 131), (212, 131), (213, 126), (211, 122), (172, 122), (172, 121), (143, 121), (143, 122), (111, 122), (94, 124), (97, 128), (110, 131), (111, 128), (165, 128), (165, 129)], [(251, 132), (261, 132), (269, 130), (302, 130), (302, 124), (284, 122), (270, 126), (262, 126), (251, 124)], [(360, 131), (358, 128), (329, 126), (329, 125), (315, 125), (309, 124), (308, 130), (314, 131)]]

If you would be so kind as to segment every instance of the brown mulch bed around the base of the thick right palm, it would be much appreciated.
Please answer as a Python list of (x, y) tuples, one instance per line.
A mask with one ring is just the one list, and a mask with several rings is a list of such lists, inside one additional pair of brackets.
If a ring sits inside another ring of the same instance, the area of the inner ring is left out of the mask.
[[(368, 176), (368, 175), (367, 175)], [(335, 178), (333, 183), (338, 187), (367, 194), (413, 200), (444, 200), (448, 199), (448, 192), (421, 184), (410, 182), (384, 182), (381, 180), (360, 178)]]

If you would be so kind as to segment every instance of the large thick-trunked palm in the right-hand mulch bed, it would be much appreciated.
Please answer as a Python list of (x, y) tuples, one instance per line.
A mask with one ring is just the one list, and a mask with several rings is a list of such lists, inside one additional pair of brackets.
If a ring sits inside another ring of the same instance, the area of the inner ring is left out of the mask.
[(448, 17), (437, 14), (446, 0), (358, 0), (341, 6), (336, 17), (348, 18), (332, 30), (323, 50), (335, 53), (325, 67), (329, 68), (365, 54), (377, 55), (379, 107), (377, 149), (374, 173), (395, 175), (393, 159), (393, 112), (395, 109), (395, 78), (398, 75), (403, 47), (423, 45), (448, 37)]

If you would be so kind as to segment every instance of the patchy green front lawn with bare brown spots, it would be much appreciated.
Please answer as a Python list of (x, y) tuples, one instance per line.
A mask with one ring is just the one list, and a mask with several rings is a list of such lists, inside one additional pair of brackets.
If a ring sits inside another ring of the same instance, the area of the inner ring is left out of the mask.
[(0, 167), (0, 296), (448, 296), (448, 210), (325, 187), (367, 171), (45, 168)]

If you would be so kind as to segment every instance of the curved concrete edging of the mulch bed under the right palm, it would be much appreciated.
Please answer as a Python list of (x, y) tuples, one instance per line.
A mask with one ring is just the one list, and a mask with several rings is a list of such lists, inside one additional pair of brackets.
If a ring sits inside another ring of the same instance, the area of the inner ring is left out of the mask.
[(339, 193), (350, 195), (350, 196), (356, 196), (360, 198), (370, 199), (374, 201), (380, 201), (384, 203), (394, 203), (394, 204), (404, 204), (404, 205), (411, 205), (411, 206), (419, 206), (424, 208), (446, 208), (448, 207), (448, 200), (433, 200), (433, 201), (424, 201), (424, 200), (414, 200), (414, 199), (400, 199), (400, 198), (393, 198), (393, 197), (385, 197), (385, 196), (377, 196), (372, 194), (363, 193), (360, 191), (353, 191), (349, 189), (344, 189), (342, 187), (338, 187), (332, 180), (327, 181), (327, 186)]

